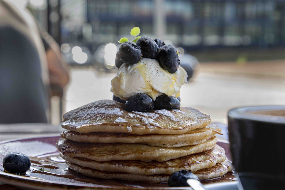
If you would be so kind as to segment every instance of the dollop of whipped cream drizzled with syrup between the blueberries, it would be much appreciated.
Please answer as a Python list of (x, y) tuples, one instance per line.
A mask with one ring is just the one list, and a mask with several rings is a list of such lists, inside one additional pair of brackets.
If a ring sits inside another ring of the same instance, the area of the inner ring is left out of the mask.
[(139, 93), (146, 93), (153, 100), (162, 94), (177, 98), (186, 81), (187, 73), (182, 67), (169, 73), (160, 67), (158, 60), (141, 58), (136, 64), (123, 64), (119, 68), (111, 81), (111, 92), (125, 101)]

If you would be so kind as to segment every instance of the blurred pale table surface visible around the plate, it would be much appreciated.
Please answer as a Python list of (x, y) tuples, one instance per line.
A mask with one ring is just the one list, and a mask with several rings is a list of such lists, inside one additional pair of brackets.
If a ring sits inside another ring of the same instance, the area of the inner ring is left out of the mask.
[[(222, 129), (222, 134), (216, 134), (221, 141), (228, 142), (227, 125), (217, 123)], [(51, 125), (46, 123), (16, 123), (16, 124), (0, 124), (0, 142), (12, 139), (35, 138), (48, 135), (60, 135), (64, 129), (60, 125)], [(0, 189), (5, 190), (24, 190), (19, 187), (1, 183)]]

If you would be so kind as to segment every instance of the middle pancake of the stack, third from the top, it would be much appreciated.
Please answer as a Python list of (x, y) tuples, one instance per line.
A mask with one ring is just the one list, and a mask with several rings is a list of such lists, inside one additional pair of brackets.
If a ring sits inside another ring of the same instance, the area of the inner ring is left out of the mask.
[(56, 147), (63, 155), (70, 158), (87, 158), (97, 162), (110, 160), (141, 160), (143, 162), (156, 160), (158, 162), (164, 162), (166, 160), (211, 150), (216, 143), (217, 137), (214, 137), (206, 142), (193, 146), (161, 148), (146, 144), (83, 143), (60, 138), (56, 142)]

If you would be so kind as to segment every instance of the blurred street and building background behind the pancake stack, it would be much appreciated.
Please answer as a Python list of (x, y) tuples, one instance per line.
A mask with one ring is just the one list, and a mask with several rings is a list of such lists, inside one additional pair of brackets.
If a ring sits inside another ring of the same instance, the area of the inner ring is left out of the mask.
[(28, 7), (60, 45), (70, 66), (52, 120), (99, 99), (112, 99), (121, 37), (161, 38), (180, 50), (188, 83), (181, 105), (227, 122), (245, 105), (285, 104), (285, 0), (30, 0)]

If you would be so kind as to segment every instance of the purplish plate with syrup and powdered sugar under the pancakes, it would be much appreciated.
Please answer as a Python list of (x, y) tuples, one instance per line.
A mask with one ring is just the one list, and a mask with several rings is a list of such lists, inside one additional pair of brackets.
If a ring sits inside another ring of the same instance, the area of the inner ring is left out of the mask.
[[(0, 142), (0, 160), (9, 152), (21, 152), (31, 159), (31, 168), (26, 175), (4, 172), (0, 163), (0, 181), (23, 189), (192, 189), (191, 187), (168, 187), (168, 183), (139, 183), (119, 180), (90, 178), (70, 169), (59, 156), (55, 143), (60, 136), (45, 136)], [(229, 144), (217, 142), (228, 158)], [(58, 167), (58, 168), (57, 168)], [(225, 177), (201, 181), (209, 190), (237, 189), (235, 174), (229, 172)]]

